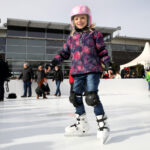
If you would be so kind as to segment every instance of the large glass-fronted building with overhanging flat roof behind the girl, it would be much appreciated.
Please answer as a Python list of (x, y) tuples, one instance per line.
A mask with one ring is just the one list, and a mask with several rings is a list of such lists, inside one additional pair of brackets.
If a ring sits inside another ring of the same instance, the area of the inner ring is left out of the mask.
[[(36, 70), (38, 65), (49, 63), (62, 49), (70, 30), (70, 25), (64, 23), (7, 19), (5, 27), (0, 29), (0, 54), (14, 74), (20, 73), (24, 62)], [(118, 28), (97, 27), (97, 30), (103, 33), (111, 55), (111, 39)], [(70, 60), (65, 61), (61, 68), (67, 77)]]

